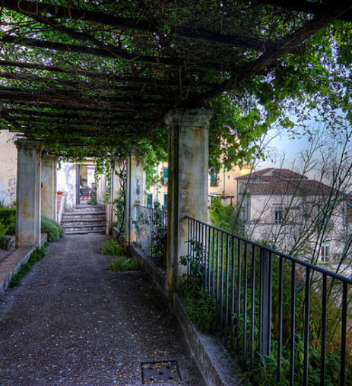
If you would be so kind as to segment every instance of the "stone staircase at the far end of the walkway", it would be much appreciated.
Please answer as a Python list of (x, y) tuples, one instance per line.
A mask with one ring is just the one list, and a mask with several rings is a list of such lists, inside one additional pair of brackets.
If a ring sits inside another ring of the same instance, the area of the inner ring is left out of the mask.
[(74, 211), (65, 211), (61, 219), (65, 235), (84, 235), (106, 232), (106, 216), (103, 206), (76, 205)]

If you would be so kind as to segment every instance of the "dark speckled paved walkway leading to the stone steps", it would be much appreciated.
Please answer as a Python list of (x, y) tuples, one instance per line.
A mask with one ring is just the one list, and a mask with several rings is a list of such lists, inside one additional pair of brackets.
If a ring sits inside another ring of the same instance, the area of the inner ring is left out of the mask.
[[(176, 360), (203, 385), (175, 315), (144, 272), (111, 273), (104, 235), (51, 244), (0, 301), (0, 385), (142, 385), (141, 363)], [(165, 383), (163, 383), (165, 385)]]

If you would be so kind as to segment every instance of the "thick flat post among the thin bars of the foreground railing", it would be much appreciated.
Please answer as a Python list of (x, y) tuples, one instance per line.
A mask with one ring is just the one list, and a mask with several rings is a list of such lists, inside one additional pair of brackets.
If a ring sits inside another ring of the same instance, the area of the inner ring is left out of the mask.
[(272, 278), (271, 256), (268, 251), (260, 251), (260, 354), (270, 356), (271, 347), (271, 301)]

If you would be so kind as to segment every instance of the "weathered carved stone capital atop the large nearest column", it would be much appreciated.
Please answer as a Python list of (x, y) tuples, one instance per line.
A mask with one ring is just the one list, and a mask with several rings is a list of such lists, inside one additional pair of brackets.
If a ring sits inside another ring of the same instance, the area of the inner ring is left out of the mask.
[(209, 126), (209, 120), (213, 117), (213, 111), (203, 108), (175, 108), (165, 116), (166, 125), (199, 125)]

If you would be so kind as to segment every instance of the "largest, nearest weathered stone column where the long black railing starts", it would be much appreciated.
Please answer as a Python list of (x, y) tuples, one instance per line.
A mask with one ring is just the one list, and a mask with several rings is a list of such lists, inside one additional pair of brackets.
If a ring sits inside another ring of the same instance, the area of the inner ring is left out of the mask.
[(211, 111), (177, 108), (165, 117), (169, 137), (168, 246), (166, 292), (177, 288), (184, 272), (180, 256), (187, 255), (188, 225), (185, 216), (207, 221), (208, 142)]

